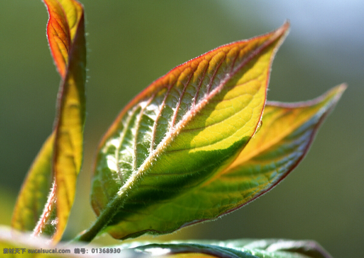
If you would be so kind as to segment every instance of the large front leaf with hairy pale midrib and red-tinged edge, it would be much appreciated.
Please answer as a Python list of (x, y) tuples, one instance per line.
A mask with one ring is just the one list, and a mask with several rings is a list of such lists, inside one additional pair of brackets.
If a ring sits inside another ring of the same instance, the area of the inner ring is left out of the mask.
[[(190, 60), (122, 110), (99, 147), (91, 192), (99, 218), (91, 231), (108, 224), (113, 237), (126, 238), (181, 226), (171, 208), (139, 218), (199, 186), (244, 148), (261, 119), (270, 64), (288, 27)], [(167, 227), (159, 227), (162, 221)]]

